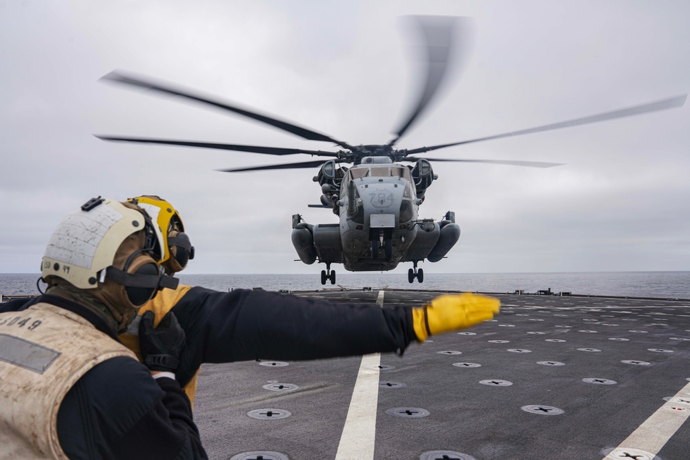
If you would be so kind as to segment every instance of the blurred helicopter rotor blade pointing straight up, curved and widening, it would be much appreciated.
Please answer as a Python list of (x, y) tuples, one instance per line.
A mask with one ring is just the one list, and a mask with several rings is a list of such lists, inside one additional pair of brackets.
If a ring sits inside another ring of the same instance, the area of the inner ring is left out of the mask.
[[(396, 137), (388, 143), (391, 147), (412, 126), (428, 103), (435, 96), (438, 88), (446, 77), (449, 68), (449, 57), (453, 53), (454, 35), (462, 33), (469, 38), (471, 18), (450, 16), (413, 16), (414, 26), (420, 28), (424, 39), (424, 61), (426, 63), (426, 80), (415, 108), (398, 128)], [(462, 43), (463, 45), (465, 43)]]

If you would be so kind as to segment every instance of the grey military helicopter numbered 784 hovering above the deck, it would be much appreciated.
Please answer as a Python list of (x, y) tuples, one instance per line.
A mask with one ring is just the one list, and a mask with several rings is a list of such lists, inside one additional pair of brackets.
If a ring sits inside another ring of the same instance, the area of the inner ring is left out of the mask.
[[(426, 50), (426, 79), (420, 97), (415, 106), (413, 106), (413, 110), (411, 110), (404, 123), (395, 132), (395, 137), (386, 144), (351, 145), (293, 123), (268, 117), (253, 110), (239, 108), (233, 103), (219, 101), (216, 98), (207, 97), (191, 90), (175, 88), (175, 86), (168, 83), (152, 81), (152, 79), (119, 71), (110, 72), (102, 80), (155, 90), (163, 94), (183, 97), (222, 110), (235, 112), (304, 139), (333, 143), (335, 146), (341, 147), (342, 150), (331, 152), (141, 137), (105, 135), (97, 135), (97, 137), (105, 141), (154, 143), (272, 155), (309, 154), (330, 158), (299, 163), (230, 168), (221, 171), (246, 172), (319, 167), (319, 172), (313, 177), (313, 180), (321, 186), (321, 204), (309, 206), (331, 208), (339, 216), (339, 223), (312, 225), (306, 223), (300, 214), (294, 214), (292, 242), (299, 260), (306, 264), (312, 264), (318, 259), (319, 263), (326, 264), (326, 270), (321, 272), (322, 284), (326, 284), (326, 281), (331, 281), (331, 284), (335, 284), (335, 270), (331, 270), (331, 264), (333, 263), (342, 263), (345, 270), (357, 272), (393, 270), (403, 262), (413, 263), (413, 268), (408, 270), (408, 281), (413, 283), (417, 279), (417, 281), (422, 283), (424, 281), (424, 270), (417, 268), (417, 264), (424, 260), (430, 262), (440, 261), (460, 238), (460, 226), (455, 223), (455, 212), (446, 212), (439, 221), (435, 219), (420, 219), (419, 217), (419, 207), (424, 202), (426, 190), (433, 181), (438, 179), (437, 174), (433, 172), (431, 161), (492, 163), (536, 168), (550, 168), (559, 166), (559, 164), (537, 161), (439, 159), (415, 157), (415, 154), (460, 146), (466, 143), (531, 134), (680, 107), (684, 104), (687, 97), (687, 94), (684, 94), (642, 106), (615, 110), (537, 128), (496, 134), (489, 137), (444, 143), (431, 147), (398, 149), (395, 148), (397, 141), (417, 121), (420, 114), (433, 99), (437, 89), (441, 86), (447, 74), (446, 70), (449, 67), (449, 60), (453, 55), (454, 34), (457, 34), (459, 25), (462, 25), (462, 20), (455, 17), (415, 17), (415, 20), (422, 32), (421, 36), (424, 42), (422, 48)], [(344, 163), (351, 164), (351, 167), (341, 166)], [(406, 166), (403, 163), (413, 163), (413, 165)]]

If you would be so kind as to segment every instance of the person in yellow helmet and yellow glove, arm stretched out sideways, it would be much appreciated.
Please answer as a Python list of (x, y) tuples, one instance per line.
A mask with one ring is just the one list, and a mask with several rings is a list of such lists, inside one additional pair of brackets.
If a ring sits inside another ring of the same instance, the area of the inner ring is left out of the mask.
[[(194, 250), (177, 210), (154, 196), (130, 201), (146, 208), (164, 230), (166, 273), (183, 270)], [(12, 308), (18, 305), (12, 303)], [(159, 292), (139, 313), (152, 311), (155, 325), (168, 312), (177, 317), (187, 340), (176, 377), (193, 403), (202, 363), (301, 361), (375, 352), (402, 355), (410, 343), (492, 319), (499, 308), (497, 299), (469, 293), (444, 294), (415, 308), (380, 308), (373, 303), (331, 303), (263, 290), (219, 292), (180, 283)], [(138, 332), (134, 326), (120, 336), (137, 354)]]

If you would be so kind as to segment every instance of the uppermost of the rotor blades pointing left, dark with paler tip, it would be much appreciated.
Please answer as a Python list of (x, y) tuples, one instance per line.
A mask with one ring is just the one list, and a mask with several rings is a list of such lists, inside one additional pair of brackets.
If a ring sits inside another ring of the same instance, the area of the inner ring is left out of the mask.
[(179, 96), (179, 97), (184, 97), (186, 99), (190, 99), (192, 101), (197, 101), (205, 104), (209, 104), (210, 106), (214, 106), (217, 108), (221, 108), (223, 110), (229, 110), (230, 112), (235, 112), (237, 114), (243, 115), (244, 117), (248, 117), (251, 119), (255, 119), (257, 121), (261, 121), (262, 123), (267, 123), (270, 126), (274, 126), (275, 128), (279, 128), (281, 130), (291, 132), (292, 134), (295, 134), (299, 137), (303, 137), (304, 139), (309, 139), (310, 141), (325, 141), (325, 142), (333, 142), (341, 147), (344, 148), (352, 148), (348, 143), (338, 141), (337, 139), (333, 139), (332, 137), (327, 136), (326, 134), (321, 134), (319, 132), (315, 132), (313, 130), (309, 130), (307, 128), (302, 128), (301, 126), (293, 125), (292, 123), (288, 123), (286, 121), (281, 121), (278, 119), (275, 119), (273, 117), (268, 117), (266, 115), (259, 114), (257, 112), (251, 112), (250, 110), (244, 110), (242, 108), (235, 107), (233, 105), (230, 105), (230, 103), (226, 102), (221, 102), (215, 99), (211, 99), (210, 97), (206, 97), (201, 94), (195, 94), (191, 90), (186, 90), (182, 88), (174, 88), (173, 86), (170, 86), (169, 84), (165, 83), (157, 83), (154, 81), (151, 81), (150, 79), (145, 79), (141, 77), (137, 77), (132, 74), (124, 74), (121, 71), (114, 70), (110, 72), (109, 74), (101, 77), (101, 80), (103, 81), (111, 81), (115, 83), (124, 83), (126, 85), (131, 85), (131, 86), (137, 86), (139, 88), (145, 88), (148, 90), (155, 90), (158, 92), (162, 92), (164, 94), (170, 94), (172, 96)]

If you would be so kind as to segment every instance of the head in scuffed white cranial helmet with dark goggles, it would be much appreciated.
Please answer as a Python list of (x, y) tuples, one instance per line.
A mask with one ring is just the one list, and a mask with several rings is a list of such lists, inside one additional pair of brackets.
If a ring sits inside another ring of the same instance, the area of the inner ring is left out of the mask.
[(121, 324), (162, 288), (178, 280), (161, 274), (163, 235), (132, 203), (94, 198), (53, 232), (41, 262), (48, 286), (70, 283), (105, 303)]

